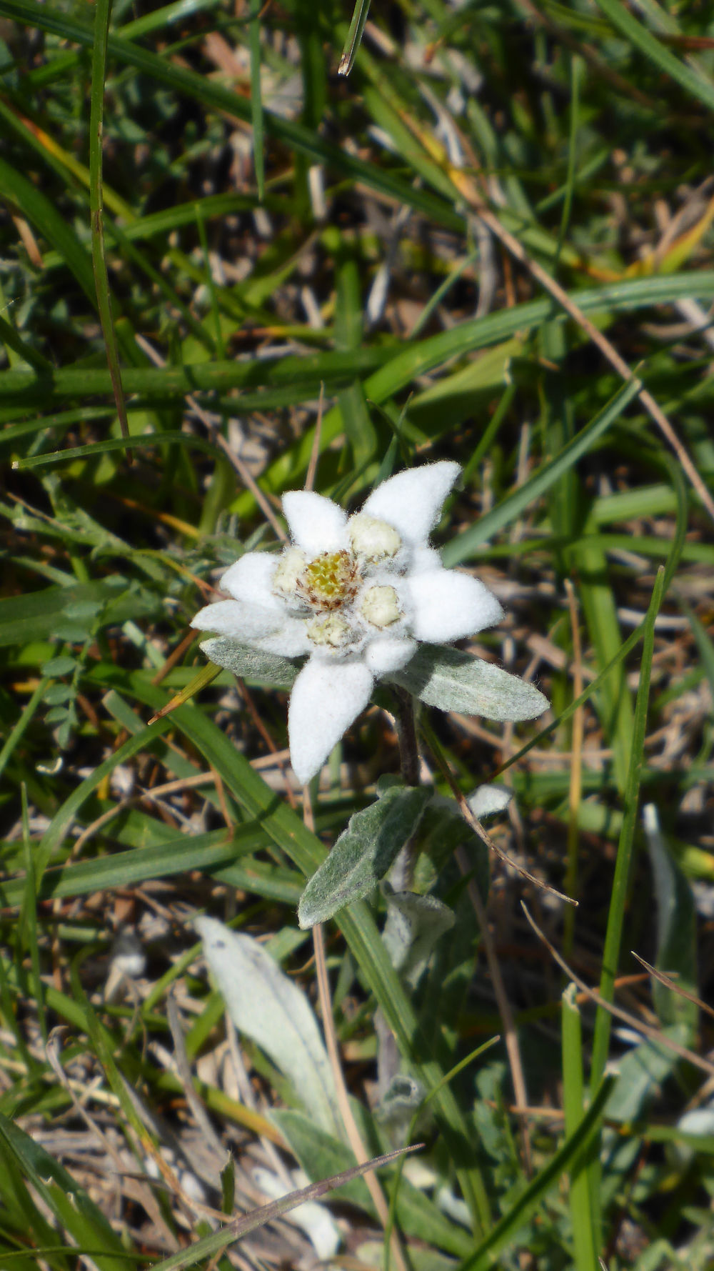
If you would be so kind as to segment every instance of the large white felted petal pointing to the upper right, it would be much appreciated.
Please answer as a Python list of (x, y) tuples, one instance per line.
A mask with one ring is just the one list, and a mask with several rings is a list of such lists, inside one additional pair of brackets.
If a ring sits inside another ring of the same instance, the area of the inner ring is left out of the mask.
[(407, 543), (426, 544), (460, 472), (448, 460), (408, 468), (377, 486), (362, 511), (394, 525)]

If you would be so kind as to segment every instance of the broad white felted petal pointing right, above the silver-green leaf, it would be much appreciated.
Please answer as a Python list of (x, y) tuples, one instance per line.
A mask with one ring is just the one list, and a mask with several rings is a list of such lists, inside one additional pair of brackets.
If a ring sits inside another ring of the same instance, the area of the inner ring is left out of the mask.
[(412, 634), (429, 643), (474, 636), (501, 622), (503, 610), (478, 578), (455, 569), (434, 569), (407, 580), (412, 597)]

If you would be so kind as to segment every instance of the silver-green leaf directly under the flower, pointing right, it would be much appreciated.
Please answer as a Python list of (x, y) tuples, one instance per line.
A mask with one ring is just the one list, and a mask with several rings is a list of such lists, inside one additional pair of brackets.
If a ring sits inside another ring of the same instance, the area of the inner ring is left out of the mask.
[(390, 679), (429, 707), (487, 719), (535, 719), (549, 704), (539, 689), (517, 675), (445, 644), (421, 644), (412, 661)]

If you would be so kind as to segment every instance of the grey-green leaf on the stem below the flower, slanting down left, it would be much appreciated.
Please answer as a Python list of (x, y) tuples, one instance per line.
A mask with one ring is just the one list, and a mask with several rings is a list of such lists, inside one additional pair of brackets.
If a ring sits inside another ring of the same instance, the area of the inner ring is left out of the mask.
[(426, 787), (393, 785), (376, 803), (349, 817), (300, 897), (297, 920), (302, 928), (327, 921), (374, 891), (414, 834), (432, 794)]

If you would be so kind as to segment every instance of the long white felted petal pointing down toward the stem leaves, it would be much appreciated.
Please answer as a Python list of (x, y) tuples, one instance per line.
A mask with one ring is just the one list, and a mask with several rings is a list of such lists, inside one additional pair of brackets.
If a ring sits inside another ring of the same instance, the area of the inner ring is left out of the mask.
[(311, 657), (302, 667), (287, 714), (290, 760), (302, 785), (320, 770), (343, 732), (365, 709), (372, 684), (372, 672), (365, 662)]

